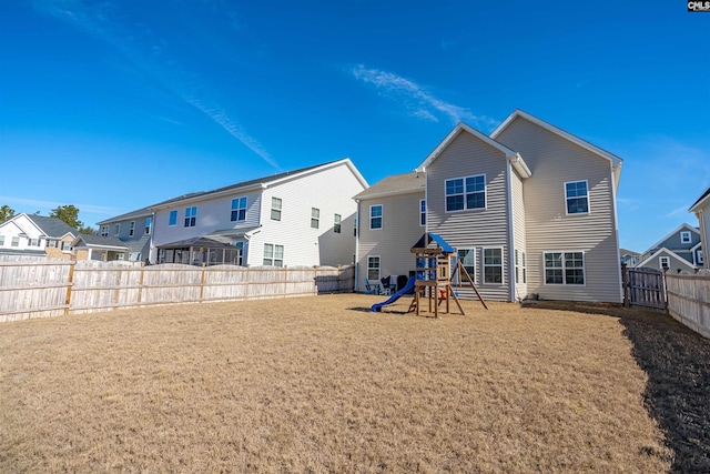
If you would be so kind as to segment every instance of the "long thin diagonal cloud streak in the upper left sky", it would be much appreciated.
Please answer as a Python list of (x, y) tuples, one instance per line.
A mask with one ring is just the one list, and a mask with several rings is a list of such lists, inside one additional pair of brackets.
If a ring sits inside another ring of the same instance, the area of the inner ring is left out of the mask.
[[(276, 161), (254, 137), (250, 135), (223, 107), (205, 80), (195, 79), (163, 48), (164, 40), (145, 24), (125, 27), (120, 3), (85, 2), (82, 0), (36, 0), (36, 10), (58, 18), (85, 33), (111, 44), (135, 67), (150, 74), (183, 101), (210, 117), (227, 133), (242, 142), (268, 164), (281, 170)], [(234, 21), (234, 18), (231, 19)]]

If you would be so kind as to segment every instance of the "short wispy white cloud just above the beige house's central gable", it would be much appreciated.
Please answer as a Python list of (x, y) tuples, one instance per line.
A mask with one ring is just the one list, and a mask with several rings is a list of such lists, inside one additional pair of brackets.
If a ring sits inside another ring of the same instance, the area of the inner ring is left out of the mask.
[(466, 108), (438, 99), (427, 87), (393, 72), (366, 68), (363, 64), (355, 65), (349, 71), (355, 79), (375, 85), (384, 97), (400, 102), (412, 117), (438, 122), (443, 115), (454, 123), (473, 122), (483, 128), (493, 128), (499, 123), (489, 117), (476, 115)]

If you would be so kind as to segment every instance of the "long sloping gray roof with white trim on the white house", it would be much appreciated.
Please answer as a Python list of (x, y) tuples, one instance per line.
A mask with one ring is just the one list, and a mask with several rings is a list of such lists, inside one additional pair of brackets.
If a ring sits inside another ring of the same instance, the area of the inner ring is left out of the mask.
[(223, 195), (223, 194), (232, 194), (234, 192), (243, 192), (243, 191), (254, 190), (254, 189), (266, 189), (268, 186), (276, 185), (276, 184), (278, 184), (278, 183), (281, 183), (283, 181), (295, 179), (295, 178), (298, 178), (300, 175), (303, 175), (303, 174), (307, 174), (308, 172), (312, 172), (312, 171), (315, 171), (315, 170), (318, 170), (318, 169), (324, 169), (325, 170), (325, 169), (328, 169), (328, 168), (337, 167), (339, 164), (347, 165), (347, 168), (349, 168), (349, 170), (357, 178), (357, 180), (363, 184), (363, 186), (367, 188), (367, 181), (365, 181), (365, 178), (363, 178), (363, 175), (357, 170), (357, 168), (355, 168), (355, 165), (353, 164), (351, 159), (349, 158), (344, 158), (342, 160), (328, 161), (327, 163), (322, 163), (322, 164), (316, 164), (316, 165), (313, 165), (313, 167), (301, 168), (301, 169), (294, 170), (294, 171), (286, 171), (286, 172), (274, 174), (274, 175), (271, 175), (271, 177), (264, 177), (264, 178), (257, 178), (255, 180), (243, 181), (241, 183), (231, 184), (229, 186), (217, 188), (217, 189), (212, 190), (212, 191), (201, 191), (201, 192), (195, 192), (195, 193), (190, 193), (190, 194), (183, 194), (183, 195), (181, 195), (179, 198), (172, 198), (172, 199), (169, 199), (166, 201), (159, 202), (158, 204), (149, 205), (148, 209), (150, 209), (150, 210), (165, 209), (165, 208), (172, 206), (173, 204), (175, 204), (178, 202), (199, 201), (199, 200), (201, 200), (202, 198), (204, 198), (206, 195), (216, 198), (216, 196), (220, 196), (220, 195)]

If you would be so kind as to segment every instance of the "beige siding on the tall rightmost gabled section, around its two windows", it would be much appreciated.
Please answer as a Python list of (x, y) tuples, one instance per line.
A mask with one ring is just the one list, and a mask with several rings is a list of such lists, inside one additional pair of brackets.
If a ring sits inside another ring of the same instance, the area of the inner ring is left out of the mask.
[[(497, 141), (523, 155), (532, 177), (525, 181), (528, 292), (544, 299), (621, 301), (611, 163), (523, 118)], [(565, 182), (587, 180), (588, 214), (567, 215)], [(544, 252), (584, 251), (586, 284), (545, 284)]]

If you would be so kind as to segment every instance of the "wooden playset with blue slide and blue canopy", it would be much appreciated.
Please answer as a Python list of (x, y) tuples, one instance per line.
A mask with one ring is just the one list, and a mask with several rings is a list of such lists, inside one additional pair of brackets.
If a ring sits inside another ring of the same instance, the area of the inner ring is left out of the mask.
[[(379, 312), (383, 306), (387, 306), (395, 301), (399, 300), (403, 295), (414, 290), (414, 297), (409, 303), (410, 312), (416, 312), (417, 315), (426, 314), (438, 317), (439, 305), (446, 303), (445, 313), (448, 314), (450, 310), (450, 300), (454, 300), (458, 306), (460, 314), (466, 314), (458, 301), (458, 293), (454, 291), (452, 286), (452, 279), (455, 278), (458, 272), (458, 286), (463, 285), (463, 280), (466, 278), (470, 286), (476, 292), (478, 300), (487, 310), (488, 306), (483, 296), (478, 292), (478, 289), (474, 284), (474, 280), (470, 278), (462, 262), (458, 260), (458, 253), (449, 245), (440, 235), (434, 233), (425, 233), (422, 239), (410, 249), (410, 252), (415, 254), (416, 271), (413, 276), (409, 276), (407, 284), (393, 294), (387, 301), (373, 304), (371, 311)], [(456, 261), (454, 272), (452, 273), (452, 259)], [(424, 301), (428, 303), (428, 312), (423, 309)]]

